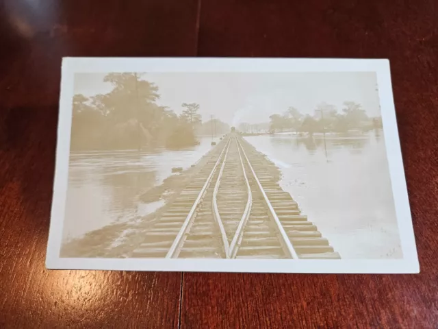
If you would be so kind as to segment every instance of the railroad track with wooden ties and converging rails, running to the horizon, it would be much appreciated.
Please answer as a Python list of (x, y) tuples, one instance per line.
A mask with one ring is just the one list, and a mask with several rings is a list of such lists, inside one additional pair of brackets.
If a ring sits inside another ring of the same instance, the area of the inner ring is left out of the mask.
[(235, 134), (146, 232), (133, 257), (340, 258)]

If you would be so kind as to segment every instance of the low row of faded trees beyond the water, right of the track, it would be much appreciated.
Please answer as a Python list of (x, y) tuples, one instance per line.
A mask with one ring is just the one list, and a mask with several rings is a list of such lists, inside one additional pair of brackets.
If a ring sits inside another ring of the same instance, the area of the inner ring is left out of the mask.
[(381, 118), (370, 118), (361, 104), (345, 101), (342, 112), (334, 105), (321, 103), (313, 115), (303, 115), (294, 107), (283, 114), (270, 116), (270, 132), (348, 132), (348, 130), (368, 131), (381, 127)]

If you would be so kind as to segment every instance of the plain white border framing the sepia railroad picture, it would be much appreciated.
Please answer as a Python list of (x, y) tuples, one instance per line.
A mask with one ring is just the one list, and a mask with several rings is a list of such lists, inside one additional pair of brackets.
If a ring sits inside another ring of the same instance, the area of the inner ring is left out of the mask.
[[(216, 260), (163, 258), (61, 258), (68, 186), (75, 73), (106, 72), (376, 72), (383, 133), (403, 258), (398, 260)], [(46, 266), (49, 269), (218, 271), (279, 273), (418, 273), (411, 210), (404, 176), (389, 60), (289, 58), (64, 58), (57, 128), (55, 180)]]

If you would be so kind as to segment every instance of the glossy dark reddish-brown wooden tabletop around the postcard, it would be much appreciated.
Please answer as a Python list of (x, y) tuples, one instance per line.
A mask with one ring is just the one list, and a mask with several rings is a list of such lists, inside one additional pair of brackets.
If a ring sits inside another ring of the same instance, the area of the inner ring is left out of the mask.
[[(0, 328), (437, 328), (435, 1), (0, 3)], [(421, 273), (48, 271), (62, 56), (389, 58)]]

